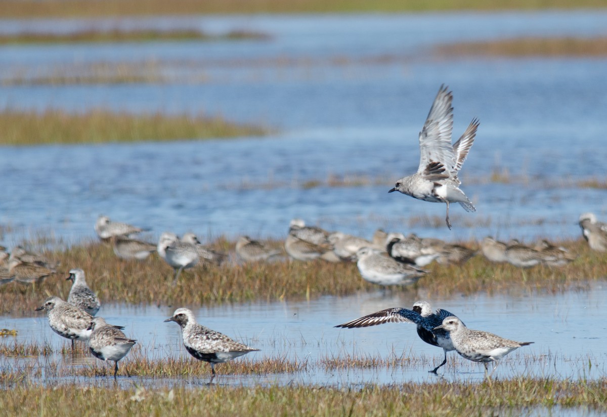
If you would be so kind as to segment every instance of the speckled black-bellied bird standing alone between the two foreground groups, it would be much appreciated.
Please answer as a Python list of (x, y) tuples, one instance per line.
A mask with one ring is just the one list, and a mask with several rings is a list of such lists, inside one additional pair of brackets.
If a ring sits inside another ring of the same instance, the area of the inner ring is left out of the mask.
[(183, 345), (188, 353), (200, 361), (211, 364), (211, 381), (215, 377), (215, 364), (222, 364), (243, 354), (259, 351), (259, 349), (233, 341), (219, 331), (198, 324), (194, 313), (188, 308), (178, 308), (173, 316), (164, 322), (175, 322), (180, 325)]

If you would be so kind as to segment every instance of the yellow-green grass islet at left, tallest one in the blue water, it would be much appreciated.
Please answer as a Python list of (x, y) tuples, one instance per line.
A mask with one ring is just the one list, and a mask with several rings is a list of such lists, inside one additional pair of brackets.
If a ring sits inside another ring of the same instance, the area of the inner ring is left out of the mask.
[(129, 114), (89, 110), (4, 110), (0, 112), (0, 145), (106, 143), (228, 138), (263, 135), (259, 126), (231, 123), (223, 117)]

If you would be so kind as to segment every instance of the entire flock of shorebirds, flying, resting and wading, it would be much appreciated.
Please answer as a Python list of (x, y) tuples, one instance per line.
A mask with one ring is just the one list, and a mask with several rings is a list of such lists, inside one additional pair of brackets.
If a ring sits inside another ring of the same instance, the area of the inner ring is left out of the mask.
[[(389, 191), (399, 191), (428, 202), (446, 203), (446, 223), (449, 228), (452, 226), (449, 220), (450, 203), (456, 202), (467, 211), (475, 211), (469, 198), (459, 189), (461, 183), (457, 174), (472, 147), (479, 126), (478, 120), (472, 120), (464, 134), (452, 144), (452, 99), (447, 87), (441, 86), (419, 134), (421, 160), (418, 172), (399, 179)], [(592, 249), (607, 251), (605, 223), (597, 222), (594, 214), (587, 213), (580, 216), (579, 225)], [(95, 231), (100, 239), (113, 245), (114, 253), (121, 259), (144, 260), (157, 252), (174, 268), (173, 285), (177, 284), (183, 270), (209, 263), (220, 265), (229, 259), (228, 254), (200, 243), (192, 233), (178, 237), (172, 232), (164, 232), (158, 243), (144, 242), (134, 239), (132, 235), (145, 229), (112, 222), (103, 215), (97, 220)], [(414, 234), (405, 237), (401, 233), (382, 230), (376, 231), (372, 240), (367, 240), (308, 226), (300, 219), (291, 221), (283, 249), (294, 260), (356, 262), (363, 279), (384, 286), (415, 283), (427, 273), (421, 268), (431, 262), (461, 264), (477, 253), (466, 246), (439, 239), (420, 238)], [(264, 262), (282, 256), (283, 249), (243, 236), (237, 240), (236, 256), (242, 262)], [(575, 259), (565, 248), (554, 246), (546, 240), (531, 247), (518, 240), (499, 242), (486, 237), (480, 242), (480, 253), (492, 262), (507, 262), (521, 268), (535, 265), (558, 267)], [(56, 265), (44, 257), (28, 253), (20, 246), (14, 248), (10, 255), (5, 249), (0, 251), (0, 283), (39, 283), (55, 271)], [(101, 303), (87, 285), (83, 270), (70, 270), (67, 279), (73, 282), (67, 301), (49, 297), (36, 310), (47, 311), (52, 330), (71, 339), (72, 348), (74, 340), (88, 341), (93, 356), (114, 361), (116, 378), (118, 361), (126, 356), (136, 341), (126, 337), (120, 326), (107, 324), (103, 318), (95, 317)], [(164, 321), (179, 324), (186, 350), (194, 358), (211, 364), (211, 381), (215, 376), (215, 364), (257, 350), (198, 324), (192, 311), (187, 308), (178, 308), (173, 316)], [(424, 342), (443, 348), (444, 361), (431, 371), (433, 373), (446, 364), (448, 351), (455, 350), (470, 361), (484, 363), (487, 372), (490, 362), (497, 366), (497, 362), (506, 354), (532, 343), (470, 330), (455, 314), (440, 309), (432, 311), (426, 301), (416, 302), (413, 310), (388, 308), (336, 327), (359, 328), (390, 322), (416, 324), (418, 335)]]

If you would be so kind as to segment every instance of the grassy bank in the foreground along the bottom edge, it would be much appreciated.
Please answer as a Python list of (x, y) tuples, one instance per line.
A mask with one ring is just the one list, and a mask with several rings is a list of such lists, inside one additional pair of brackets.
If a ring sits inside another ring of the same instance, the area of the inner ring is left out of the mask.
[(330, 387), (134, 387), (63, 385), (16, 386), (0, 396), (7, 415), (141, 416), (386, 416), (386, 415), (521, 415), (535, 407), (559, 407), (597, 413), (607, 410), (607, 381), (515, 379), (480, 384), (367, 385), (360, 389)]

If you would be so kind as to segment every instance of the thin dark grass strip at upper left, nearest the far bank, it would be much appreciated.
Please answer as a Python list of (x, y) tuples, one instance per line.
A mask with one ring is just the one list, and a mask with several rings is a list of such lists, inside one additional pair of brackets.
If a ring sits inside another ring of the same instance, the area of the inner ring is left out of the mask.
[(232, 30), (221, 35), (194, 29), (175, 30), (81, 30), (71, 33), (20, 32), (0, 34), (0, 45), (6, 44), (55, 44), (84, 42), (158, 42), (158, 41), (222, 41), (241, 39), (269, 39), (265, 33), (248, 30)]

